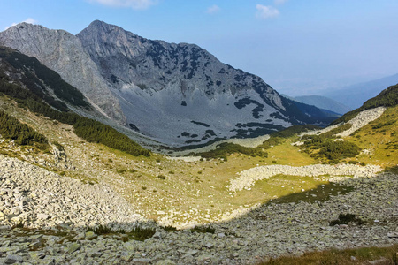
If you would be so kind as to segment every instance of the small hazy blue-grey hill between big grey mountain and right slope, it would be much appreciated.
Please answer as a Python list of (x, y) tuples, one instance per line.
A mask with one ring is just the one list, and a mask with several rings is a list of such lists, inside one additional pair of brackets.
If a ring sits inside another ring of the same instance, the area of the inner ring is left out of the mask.
[(351, 110), (348, 106), (336, 102), (335, 100), (322, 95), (302, 95), (295, 96), (295, 101), (302, 102), (308, 105), (313, 105), (323, 110), (330, 110), (334, 113), (344, 114)]

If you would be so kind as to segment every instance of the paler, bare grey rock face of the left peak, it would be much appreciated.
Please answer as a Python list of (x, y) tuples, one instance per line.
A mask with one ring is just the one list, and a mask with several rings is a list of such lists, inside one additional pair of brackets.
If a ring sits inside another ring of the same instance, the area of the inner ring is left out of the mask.
[(73, 34), (20, 23), (0, 34), (0, 44), (36, 57), (73, 87), (80, 89), (107, 116), (119, 122), (125, 121), (118, 100), (111, 95), (96, 64)]

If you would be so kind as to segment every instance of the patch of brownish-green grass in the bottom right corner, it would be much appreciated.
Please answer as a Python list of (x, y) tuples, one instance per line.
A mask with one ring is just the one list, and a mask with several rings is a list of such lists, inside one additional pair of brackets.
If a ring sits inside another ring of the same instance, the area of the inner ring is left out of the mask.
[[(337, 250), (331, 249), (321, 252), (310, 252), (299, 257), (283, 256), (258, 263), (258, 265), (356, 265), (356, 264), (379, 264), (396, 265), (398, 245), (386, 247), (362, 247), (354, 249)], [(373, 261), (372, 263), (370, 263)]]

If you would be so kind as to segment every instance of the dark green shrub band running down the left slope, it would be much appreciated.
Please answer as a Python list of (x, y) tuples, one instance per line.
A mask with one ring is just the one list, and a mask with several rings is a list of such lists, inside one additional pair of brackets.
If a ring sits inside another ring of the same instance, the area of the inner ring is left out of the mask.
[[(26, 57), (16, 52), (11, 52), (11, 58), (14, 58), (15, 54), (19, 55), (17, 60), (19, 61), (19, 67), (23, 67), (22, 65), (24, 65), (21, 64), (21, 62), (30, 62), (28, 60), (29, 58), (34, 60), (34, 58)], [(5, 55), (7, 55), (7, 53), (2, 54), (3, 57)], [(11, 60), (10, 57), (5, 58)], [(10, 96), (12, 99), (18, 102), (19, 107), (27, 108), (34, 113), (41, 114), (51, 119), (55, 119), (61, 123), (73, 125), (74, 133), (76, 133), (80, 138), (88, 140), (88, 142), (102, 143), (105, 146), (125, 151), (126, 153), (131, 155), (150, 155), (149, 150), (142, 148), (140, 145), (128, 138), (125, 134), (119, 133), (111, 126), (103, 125), (96, 120), (90, 119), (88, 117), (81, 117), (73, 112), (68, 111), (68, 108), (64, 102), (57, 101), (54, 98), (50, 97), (50, 95), (46, 95), (42, 90), (43, 87), (39, 88), (41, 87), (41, 81), (36, 79), (32, 72), (26, 72), (26, 74), (22, 76), (21, 82), (27, 88), (21, 87), (21, 85), (17, 83), (18, 80), (12, 80), (9, 75), (6, 74), (5, 71), (10, 71), (9, 69), (11, 67), (11, 64), (6, 65), (8, 67), (4, 66), (3, 69), (0, 69), (0, 93)], [(43, 72), (48, 69), (45, 66), (38, 67), (38, 65), (41, 64), (35, 62), (33, 66), (28, 64), (24, 67), (33, 68), (33, 70), (31, 70), (34, 73), (36, 68), (40, 69), (40, 72), (42, 72), (41, 74), (45, 76), (46, 73)], [(12, 67), (11, 71), (21, 72), (18, 69)], [(88, 105), (86, 105), (86, 103), (83, 101), (81, 93), (78, 93), (76, 88), (65, 85), (65, 82), (58, 82), (57, 77), (59, 76), (55, 75), (54, 72), (50, 72), (50, 78), (48, 80), (53, 86), (61, 84), (61, 87), (64, 87), (63, 90), (60, 90), (60, 93), (62, 94), (62, 97), (64, 99), (66, 95), (69, 96), (66, 102), (74, 102), (74, 104), (88, 107)], [(39, 84), (37, 84), (36, 81), (38, 81)], [(57, 89), (54, 89), (54, 91), (56, 90)], [(55, 110), (54, 108), (58, 110)]]

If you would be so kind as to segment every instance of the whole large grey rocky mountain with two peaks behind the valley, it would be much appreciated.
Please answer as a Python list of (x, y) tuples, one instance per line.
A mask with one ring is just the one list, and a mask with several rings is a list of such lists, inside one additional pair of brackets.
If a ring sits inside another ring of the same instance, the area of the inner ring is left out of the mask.
[(333, 120), (194, 44), (152, 41), (98, 20), (77, 35), (21, 23), (0, 33), (0, 44), (58, 72), (103, 115), (171, 146)]

